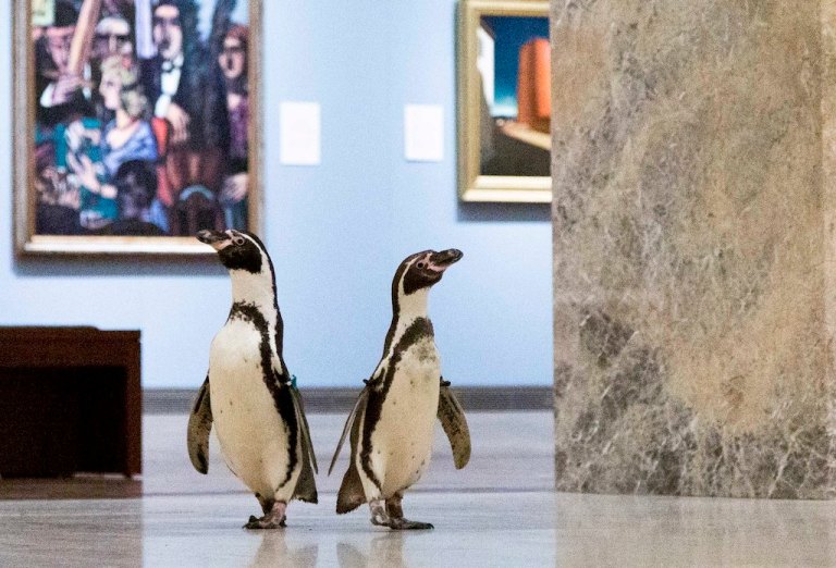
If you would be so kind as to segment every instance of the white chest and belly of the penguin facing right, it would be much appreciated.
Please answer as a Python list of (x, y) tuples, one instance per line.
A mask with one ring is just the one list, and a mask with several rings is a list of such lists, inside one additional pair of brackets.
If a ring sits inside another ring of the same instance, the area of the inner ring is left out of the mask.
[(441, 362), (433, 339), (404, 351), (371, 436), (372, 470), (384, 496), (417, 482), (430, 465)]

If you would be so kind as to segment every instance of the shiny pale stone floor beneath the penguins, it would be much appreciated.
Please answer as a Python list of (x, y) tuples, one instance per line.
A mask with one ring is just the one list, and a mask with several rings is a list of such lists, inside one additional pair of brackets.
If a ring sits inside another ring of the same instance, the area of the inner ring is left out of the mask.
[[(453, 468), (439, 430), (430, 472), (404, 501), (407, 517), (433, 531), (372, 527), (366, 510), (337, 517), (340, 476), (323, 470), (343, 417), (311, 415), (320, 504), (294, 503), (286, 529), (256, 532), (241, 526), (257, 503), (214, 443), (200, 476), (185, 454), (186, 417), (147, 416), (142, 484), (0, 481), (0, 497), (16, 497), (0, 499), (0, 566), (836, 565), (834, 503), (558, 494), (550, 413), (469, 419), (470, 465)], [(25, 498), (108, 484), (128, 497)]]

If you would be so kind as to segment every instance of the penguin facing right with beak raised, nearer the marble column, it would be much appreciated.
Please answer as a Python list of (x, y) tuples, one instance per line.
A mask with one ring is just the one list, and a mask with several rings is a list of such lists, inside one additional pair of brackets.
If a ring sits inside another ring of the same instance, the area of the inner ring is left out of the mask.
[(340, 515), (368, 503), (372, 524), (393, 530), (433, 528), (405, 519), (402, 499), (429, 467), (437, 417), (453, 447), (456, 468), (470, 459), (467, 420), (441, 375), (427, 314), (430, 288), (462, 256), (456, 249), (425, 250), (408, 256), (395, 271), (383, 355), (364, 381), (329, 468), (330, 474), (351, 433), (352, 456), (336, 501)]

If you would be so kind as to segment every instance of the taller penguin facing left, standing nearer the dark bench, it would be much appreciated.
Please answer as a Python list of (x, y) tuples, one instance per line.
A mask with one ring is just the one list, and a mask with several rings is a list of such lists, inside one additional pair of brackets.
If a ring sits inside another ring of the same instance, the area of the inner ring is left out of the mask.
[(232, 308), (212, 339), (189, 416), (188, 456), (197, 471), (208, 472), (214, 425), (226, 465), (261, 505), (263, 516), (250, 516), (244, 528), (284, 527), (291, 499), (317, 503), (317, 461), (302, 396), (282, 358), (273, 263), (251, 233), (207, 230), (197, 239), (229, 270)]

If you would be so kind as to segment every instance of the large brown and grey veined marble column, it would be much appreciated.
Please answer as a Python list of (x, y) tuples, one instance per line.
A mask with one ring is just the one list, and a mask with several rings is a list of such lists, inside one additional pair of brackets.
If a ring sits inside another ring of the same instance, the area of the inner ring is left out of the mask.
[(557, 489), (833, 497), (836, 5), (551, 18)]

